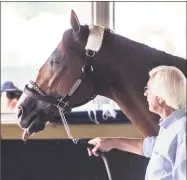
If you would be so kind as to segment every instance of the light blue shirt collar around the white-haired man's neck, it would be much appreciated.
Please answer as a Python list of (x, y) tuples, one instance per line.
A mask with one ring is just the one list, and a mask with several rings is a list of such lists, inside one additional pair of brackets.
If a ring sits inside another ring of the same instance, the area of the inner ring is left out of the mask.
[(177, 119), (180, 119), (185, 113), (186, 113), (187, 109), (178, 109), (175, 112), (173, 112), (171, 115), (169, 115), (167, 118), (165, 119), (160, 119), (160, 123), (159, 126), (163, 127), (163, 128), (167, 128), (170, 124), (172, 124), (174, 121), (176, 121)]

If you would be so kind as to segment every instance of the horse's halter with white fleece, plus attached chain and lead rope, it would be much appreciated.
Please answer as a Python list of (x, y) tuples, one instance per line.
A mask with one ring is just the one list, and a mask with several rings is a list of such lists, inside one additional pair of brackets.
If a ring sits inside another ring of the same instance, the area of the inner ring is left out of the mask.
[[(69, 126), (67, 124), (66, 118), (64, 116), (64, 108), (68, 108), (71, 112), (72, 108), (86, 104), (90, 100), (93, 100), (97, 95), (95, 81), (94, 81), (94, 77), (93, 77), (93, 66), (91, 65), (91, 60), (94, 59), (96, 52), (101, 47), (104, 30), (103, 30), (103, 28), (101, 28), (99, 26), (90, 26), (89, 29), (90, 29), (90, 33), (89, 33), (87, 45), (85, 47), (86, 59), (85, 59), (84, 65), (82, 66), (82, 73), (81, 73), (80, 77), (77, 78), (77, 81), (75, 81), (73, 86), (70, 88), (70, 90), (66, 93), (66, 95), (64, 97), (62, 97), (62, 96), (54, 97), (54, 96), (47, 95), (45, 92), (40, 90), (40, 88), (33, 81), (30, 81), (31, 87), (28, 84), (25, 86), (23, 92), (25, 92), (29, 97), (31, 97), (33, 99), (44, 101), (44, 102), (47, 102), (47, 103), (52, 104), (53, 106), (57, 107), (57, 109), (59, 110), (59, 114), (61, 116), (63, 125), (65, 127), (66, 133), (67, 133), (68, 137), (73, 141), (73, 143), (74, 144), (82, 144), (86, 148), (93, 148), (94, 146), (91, 144), (88, 144), (85, 140), (73, 138), (73, 136), (70, 132)], [(93, 42), (93, 39), (96, 39), (98, 42), (97, 43), (95, 41)], [(92, 50), (90, 50), (90, 49), (92, 49)], [(81, 102), (79, 104), (75, 104), (71, 107), (69, 105), (68, 101), (71, 98), (71, 96), (76, 92), (76, 90), (78, 89), (80, 84), (82, 83), (83, 76), (85, 74), (91, 78), (91, 80), (93, 82), (93, 86), (94, 86), (94, 91), (90, 95), (89, 98), (87, 98), (83, 102)], [(108, 161), (102, 152), (99, 152), (99, 154), (105, 164), (108, 178), (109, 178), (109, 180), (112, 180)]]

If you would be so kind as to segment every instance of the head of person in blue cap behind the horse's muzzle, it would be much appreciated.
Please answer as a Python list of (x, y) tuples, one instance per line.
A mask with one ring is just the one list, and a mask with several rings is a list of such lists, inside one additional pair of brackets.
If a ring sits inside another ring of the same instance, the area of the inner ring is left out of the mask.
[(6, 81), (1, 85), (1, 94), (4, 93), (4, 101), (8, 109), (13, 110), (22, 94), (12, 81)]

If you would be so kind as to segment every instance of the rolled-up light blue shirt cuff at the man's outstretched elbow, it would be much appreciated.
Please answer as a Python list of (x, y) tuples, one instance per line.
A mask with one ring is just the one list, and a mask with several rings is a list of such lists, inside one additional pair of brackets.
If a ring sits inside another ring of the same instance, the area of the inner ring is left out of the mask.
[(143, 155), (150, 158), (155, 146), (156, 136), (146, 137), (143, 140)]

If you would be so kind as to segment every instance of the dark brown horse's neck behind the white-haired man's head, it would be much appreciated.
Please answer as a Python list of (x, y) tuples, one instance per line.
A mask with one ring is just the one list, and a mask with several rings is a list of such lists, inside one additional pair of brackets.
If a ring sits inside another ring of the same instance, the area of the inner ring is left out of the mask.
[[(107, 88), (102, 95), (114, 100), (143, 135), (156, 135), (159, 117), (151, 113), (143, 96), (148, 72), (155, 66), (175, 65), (184, 73), (186, 61), (144, 44), (109, 34), (105, 38), (105, 76)], [(186, 73), (185, 73), (186, 74)]]

